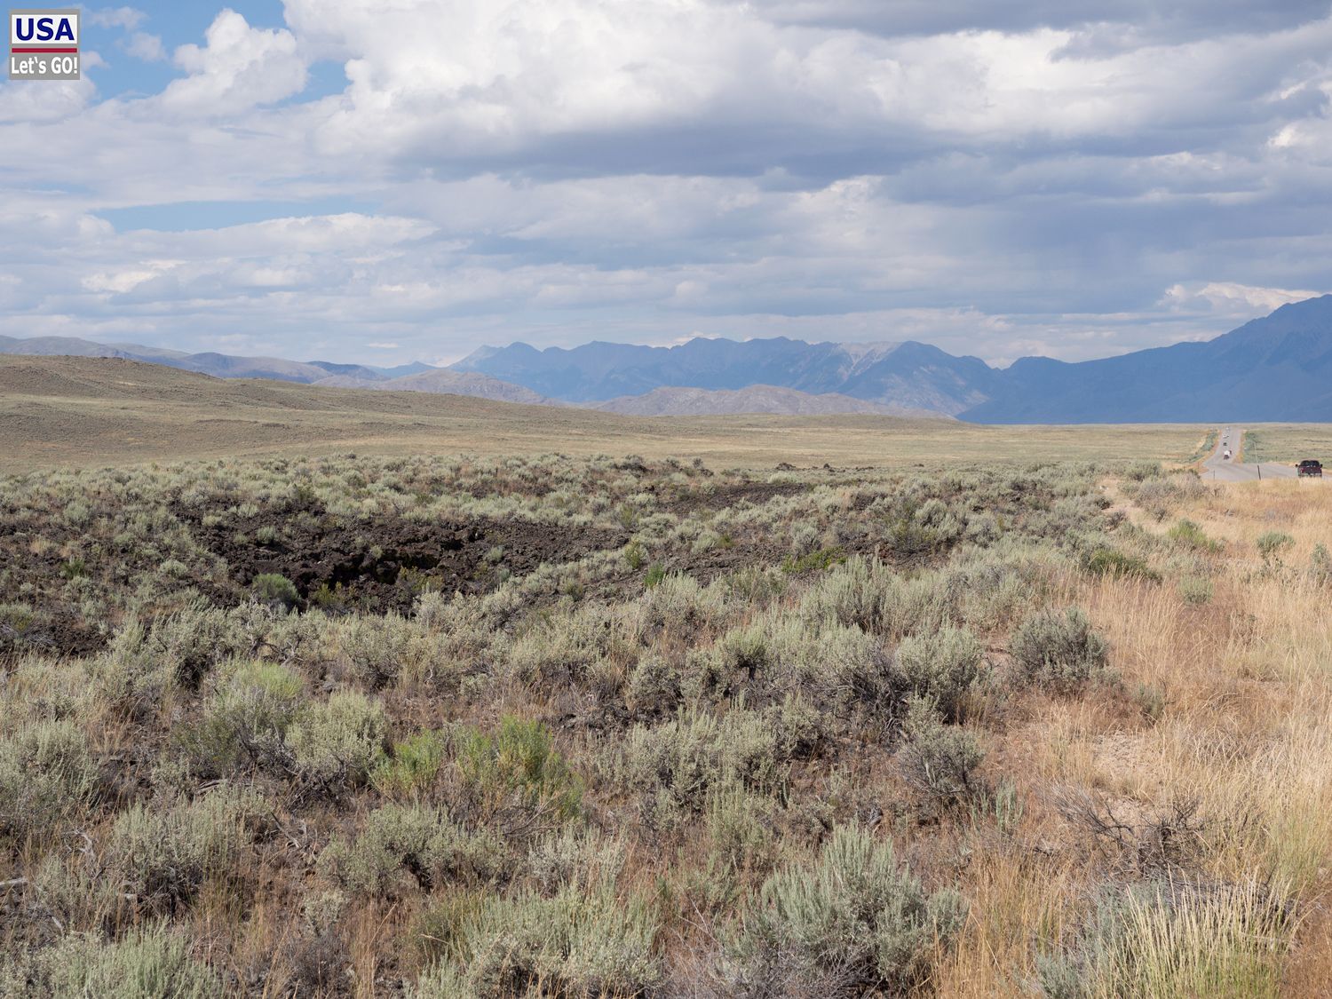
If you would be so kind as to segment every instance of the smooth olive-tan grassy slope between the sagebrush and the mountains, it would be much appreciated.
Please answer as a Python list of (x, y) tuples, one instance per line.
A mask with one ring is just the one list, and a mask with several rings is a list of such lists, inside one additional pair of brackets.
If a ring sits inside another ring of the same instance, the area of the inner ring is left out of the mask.
[(618, 417), (461, 396), (221, 381), (133, 361), (0, 357), (0, 472), (181, 458), (358, 454), (642, 454), (713, 469), (900, 468), (1151, 458), (1197, 446), (1193, 426), (983, 428), (888, 417)]

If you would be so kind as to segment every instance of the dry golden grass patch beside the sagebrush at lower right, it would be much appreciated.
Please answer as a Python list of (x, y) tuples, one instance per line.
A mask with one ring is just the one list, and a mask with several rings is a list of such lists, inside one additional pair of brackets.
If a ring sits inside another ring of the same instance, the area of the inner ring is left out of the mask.
[[(968, 867), (972, 918), (944, 963), (943, 995), (1030, 995), (1032, 942), (1056, 939), (1076, 920), (1088, 886), (1070, 862), (1080, 832), (1050, 803), (1056, 786), (1103, 795), (1130, 823), (1196, 802), (1201, 870), (1229, 884), (1271, 886), (1301, 912), (1288, 958), (1285, 944), (1264, 944), (1232, 955), (1240, 963), (1229, 971), (1183, 962), (1144, 994), (1332, 994), (1332, 617), (1325, 586), (1297, 571), (1315, 545), (1332, 539), (1332, 492), (1297, 481), (1224, 486), (1180, 514), (1223, 542), (1203, 557), (1215, 585), (1207, 605), (1187, 602), (1169, 571), (1160, 585), (1068, 579), (1068, 599), (1110, 638), (1124, 690), (1159, 689), (1160, 715), (1128, 718), (1104, 699), (1050, 701), (1028, 709), (1031, 725), (994, 738), (995, 753), (1028, 759), (1019, 786), (1032, 807), (1019, 839), (1031, 850), (987, 852)], [(1295, 539), (1283, 563), (1264, 561), (1256, 545), (1273, 529)], [(1168, 964), (1156, 915), (1132, 915), (1143, 954), (1158, 947)], [(1192, 912), (1171, 932), (1200, 940), (1180, 952), (1213, 948), (1217, 934), (1247, 932), (1225, 919)], [(1201, 992), (1187, 984), (1216, 974), (1233, 983)]]

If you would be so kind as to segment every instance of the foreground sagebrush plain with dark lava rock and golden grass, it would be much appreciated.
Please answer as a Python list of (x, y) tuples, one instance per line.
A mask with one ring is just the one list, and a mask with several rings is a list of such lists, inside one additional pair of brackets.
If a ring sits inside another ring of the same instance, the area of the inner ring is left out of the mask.
[(1328, 994), (1299, 486), (0, 480), (0, 994)]

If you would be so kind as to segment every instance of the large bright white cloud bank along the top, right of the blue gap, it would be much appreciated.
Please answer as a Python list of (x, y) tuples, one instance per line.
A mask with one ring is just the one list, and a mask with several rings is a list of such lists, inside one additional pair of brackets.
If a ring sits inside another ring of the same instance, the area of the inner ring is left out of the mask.
[[(803, 128), (793, 144), (856, 129), (1008, 145), (1034, 136), (1136, 143), (1220, 101), (1252, 101), (1255, 75), (1299, 77), (1332, 44), (1332, 20), (1253, 37), (1143, 44), (1070, 57), (1071, 29), (886, 39), (779, 27), (749, 5), (703, 0), (290, 0), (313, 51), (352, 85), (320, 129), (329, 149), (373, 135), (450, 159), (563, 135)], [(1295, 79), (1281, 79), (1276, 92)], [(1243, 112), (1241, 112), (1243, 113)], [(875, 143), (872, 132), (862, 141)], [(790, 155), (787, 148), (778, 155)]]

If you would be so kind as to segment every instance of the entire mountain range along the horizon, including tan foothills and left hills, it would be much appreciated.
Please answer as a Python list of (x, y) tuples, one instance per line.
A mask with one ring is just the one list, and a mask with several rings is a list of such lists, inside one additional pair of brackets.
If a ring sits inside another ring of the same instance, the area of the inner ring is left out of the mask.
[(1332, 296), (1309, 298), (1207, 342), (1068, 364), (1024, 357), (996, 369), (915, 341), (807, 344), (695, 338), (678, 346), (591, 342), (486, 346), (449, 368), (373, 368), (188, 354), (72, 337), (0, 337), (0, 353), (124, 357), (220, 378), (575, 405), (637, 416), (883, 413), (983, 424), (1332, 420)]

